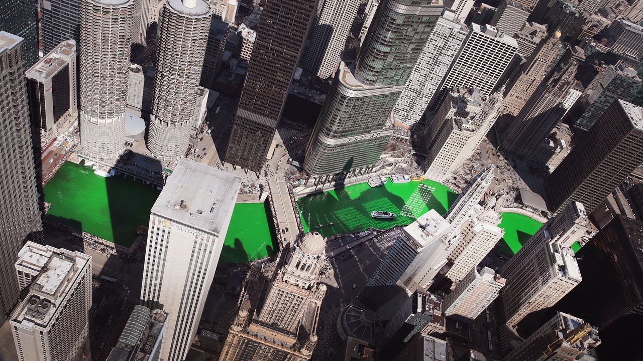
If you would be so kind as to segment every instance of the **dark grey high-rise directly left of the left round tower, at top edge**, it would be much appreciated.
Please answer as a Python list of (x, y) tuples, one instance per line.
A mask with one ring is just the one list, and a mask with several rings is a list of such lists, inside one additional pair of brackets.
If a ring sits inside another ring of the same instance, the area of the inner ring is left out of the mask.
[(41, 0), (42, 52), (49, 53), (61, 42), (80, 40), (80, 0)]

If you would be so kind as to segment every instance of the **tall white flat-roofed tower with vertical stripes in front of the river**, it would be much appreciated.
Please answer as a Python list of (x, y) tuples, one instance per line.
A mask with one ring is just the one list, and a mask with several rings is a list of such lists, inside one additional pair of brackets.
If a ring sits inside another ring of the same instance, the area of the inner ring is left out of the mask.
[(165, 361), (184, 360), (194, 340), (240, 183), (181, 159), (152, 206), (141, 299), (169, 315)]

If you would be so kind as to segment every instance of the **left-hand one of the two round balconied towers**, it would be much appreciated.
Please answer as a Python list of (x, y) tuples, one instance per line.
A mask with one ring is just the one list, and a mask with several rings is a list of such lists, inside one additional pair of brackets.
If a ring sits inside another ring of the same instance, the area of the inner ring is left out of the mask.
[(123, 146), (137, 16), (134, 0), (80, 2), (80, 144), (89, 157), (113, 158)]

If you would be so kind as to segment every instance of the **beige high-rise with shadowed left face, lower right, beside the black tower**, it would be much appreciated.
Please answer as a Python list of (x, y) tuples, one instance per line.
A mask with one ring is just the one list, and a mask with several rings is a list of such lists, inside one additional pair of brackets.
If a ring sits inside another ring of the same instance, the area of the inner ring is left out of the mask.
[(554, 306), (583, 279), (574, 251), (552, 236), (546, 229), (539, 230), (502, 269), (507, 282), (500, 295), (511, 327), (529, 313)]

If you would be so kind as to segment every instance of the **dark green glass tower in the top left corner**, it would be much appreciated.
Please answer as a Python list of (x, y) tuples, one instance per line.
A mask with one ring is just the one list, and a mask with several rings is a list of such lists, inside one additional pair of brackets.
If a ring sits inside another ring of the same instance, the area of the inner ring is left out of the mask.
[(30, 0), (0, 1), (0, 30), (23, 38), (21, 53), (24, 69), (38, 61), (38, 19), (36, 5)]

